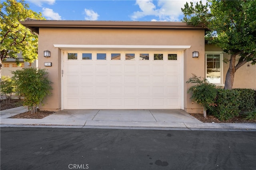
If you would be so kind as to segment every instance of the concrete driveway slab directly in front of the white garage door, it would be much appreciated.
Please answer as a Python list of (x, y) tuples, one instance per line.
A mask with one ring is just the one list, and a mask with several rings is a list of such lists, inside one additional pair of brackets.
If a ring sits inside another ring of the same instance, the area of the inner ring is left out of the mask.
[(103, 109), (62, 110), (44, 119), (79, 119), (86, 121), (191, 122), (200, 121), (180, 109)]

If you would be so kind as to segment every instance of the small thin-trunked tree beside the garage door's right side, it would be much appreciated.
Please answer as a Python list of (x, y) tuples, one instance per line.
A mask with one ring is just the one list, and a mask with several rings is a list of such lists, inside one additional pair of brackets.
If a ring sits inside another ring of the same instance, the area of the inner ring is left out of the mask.
[(215, 84), (209, 83), (207, 79), (198, 77), (195, 74), (192, 75), (186, 82), (196, 83), (196, 85), (188, 89), (188, 92), (192, 92), (190, 99), (204, 107), (204, 118), (206, 118), (206, 111), (216, 105), (214, 102), (217, 96), (217, 89)]

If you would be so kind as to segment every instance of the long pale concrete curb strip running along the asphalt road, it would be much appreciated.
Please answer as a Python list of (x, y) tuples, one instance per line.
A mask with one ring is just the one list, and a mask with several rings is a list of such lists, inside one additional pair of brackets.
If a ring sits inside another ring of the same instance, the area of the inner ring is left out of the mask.
[(0, 127), (65, 127), (111, 129), (181, 129), (256, 131), (256, 123), (183, 123), (142, 121), (83, 121), (69, 119), (1, 119)]

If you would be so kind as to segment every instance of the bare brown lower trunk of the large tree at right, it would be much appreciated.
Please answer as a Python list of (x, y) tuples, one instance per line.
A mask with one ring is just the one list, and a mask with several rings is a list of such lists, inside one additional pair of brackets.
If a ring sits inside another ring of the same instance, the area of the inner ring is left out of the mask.
[(234, 77), (236, 72), (236, 55), (231, 55), (228, 72), (226, 74), (225, 87), (224, 89), (232, 89), (234, 83)]

